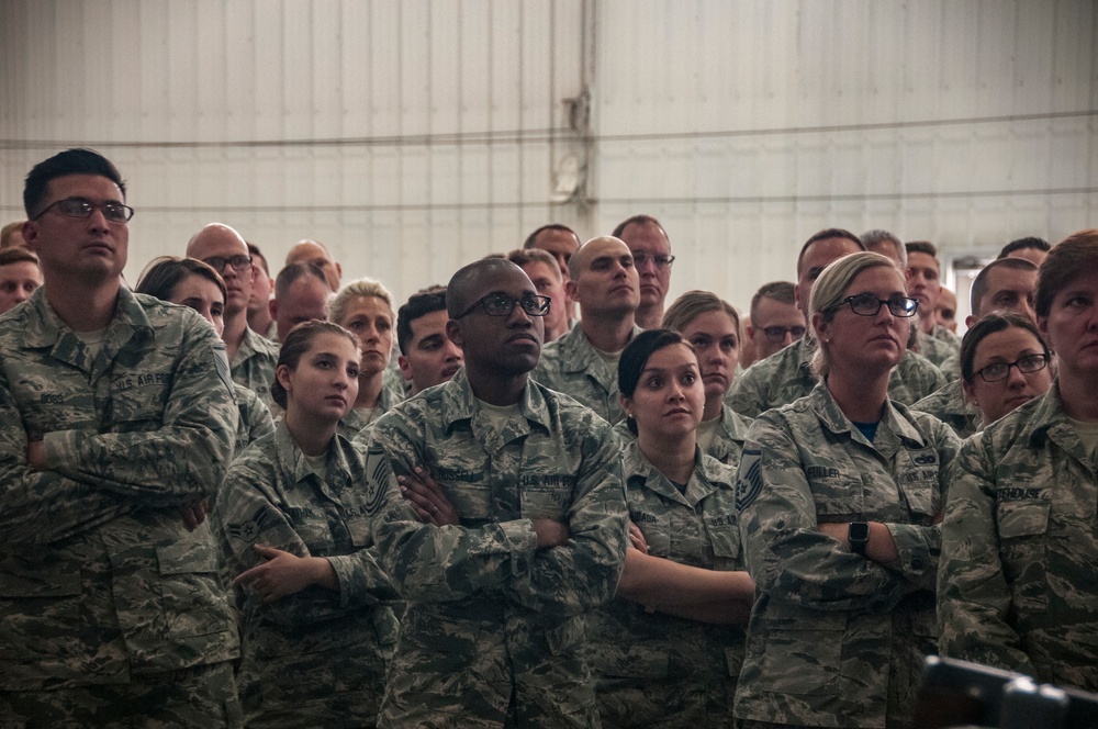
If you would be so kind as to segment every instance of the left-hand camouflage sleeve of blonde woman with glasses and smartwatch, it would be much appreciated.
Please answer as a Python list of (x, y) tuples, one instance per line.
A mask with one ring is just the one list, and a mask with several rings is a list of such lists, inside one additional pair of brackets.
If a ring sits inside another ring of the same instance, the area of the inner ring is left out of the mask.
[(748, 572), (757, 590), (774, 601), (817, 610), (885, 612), (915, 590), (900, 574), (817, 530), (795, 434), (776, 411), (748, 431), (736, 503)]

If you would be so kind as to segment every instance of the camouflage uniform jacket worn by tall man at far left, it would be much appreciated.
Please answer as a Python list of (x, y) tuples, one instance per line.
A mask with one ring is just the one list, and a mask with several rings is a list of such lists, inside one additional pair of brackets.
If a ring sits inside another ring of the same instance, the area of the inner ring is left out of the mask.
[[(98, 356), (44, 289), (0, 318), (0, 689), (122, 683), (237, 655), (209, 528), (237, 410), (198, 314), (122, 289)], [(43, 440), (51, 470), (27, 467)]]

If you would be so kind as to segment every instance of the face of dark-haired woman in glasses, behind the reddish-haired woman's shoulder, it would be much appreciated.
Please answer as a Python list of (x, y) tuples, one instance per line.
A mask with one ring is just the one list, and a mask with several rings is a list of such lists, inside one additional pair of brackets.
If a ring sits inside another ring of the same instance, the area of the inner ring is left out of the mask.
[[(1052, 368), (1037, 372), (1022, 372), (1017, 367), (1007, 370), (1007, 377), (987, 382), (981, 371), (991, 365), (1012, 365), (1027, 357), (1044, 355), (1044, 347), (1031, 332), (1017, 326), (995, 332), (976, 345), (972, 360), (972, 382), (963, 384), (968, 400), (979, 408), (984, 424), (990, 425), (1019, 405), (1043, 395), (1052, 386)], [(989, 373), (988, 373), (989, 374)]]

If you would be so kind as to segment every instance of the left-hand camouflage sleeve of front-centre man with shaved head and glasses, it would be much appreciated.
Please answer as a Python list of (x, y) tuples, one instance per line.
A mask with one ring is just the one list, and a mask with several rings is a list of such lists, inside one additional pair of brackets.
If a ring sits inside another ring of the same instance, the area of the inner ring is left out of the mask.
[(440, 603), (496, 592), (530, 572), (537, 546), (529, 519), (482, 527), (422, 523), (401, 495), (397, 474), (424, 462), (414, 446), (416, 425), (400, 412), (382, 416), (367, 450), (367, 487), (373, 537), (396, 592), (405, 599)]

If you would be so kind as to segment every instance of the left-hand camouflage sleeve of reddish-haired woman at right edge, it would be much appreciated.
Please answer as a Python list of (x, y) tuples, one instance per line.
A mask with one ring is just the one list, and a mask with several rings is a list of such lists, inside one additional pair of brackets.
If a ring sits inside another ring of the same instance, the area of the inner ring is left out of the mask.
[(945, 505), (938, 575), (939, 649), (942, 655), (1037, 675), (1018, 632), (1007, 621), (1011, 592), (999, 557), (994, 473), (984, 436), (977, 434), (961, 448)]

